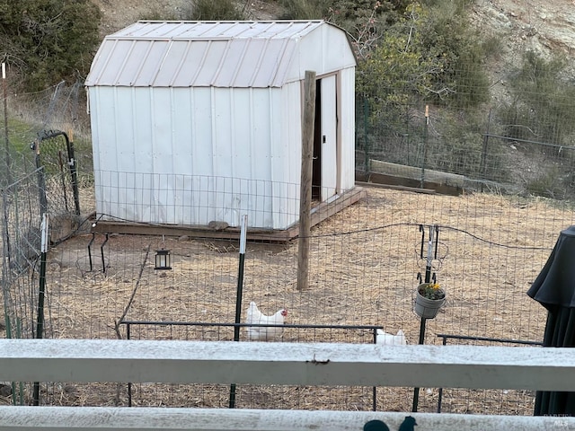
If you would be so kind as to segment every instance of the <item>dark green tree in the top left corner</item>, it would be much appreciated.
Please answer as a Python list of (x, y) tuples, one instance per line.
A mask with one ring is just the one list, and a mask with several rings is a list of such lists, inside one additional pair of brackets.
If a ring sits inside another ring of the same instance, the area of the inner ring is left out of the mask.
[(100, 10), (90, 0), (0, 0), (0, 56), (27, 91), (87, 74), (99, 43)]

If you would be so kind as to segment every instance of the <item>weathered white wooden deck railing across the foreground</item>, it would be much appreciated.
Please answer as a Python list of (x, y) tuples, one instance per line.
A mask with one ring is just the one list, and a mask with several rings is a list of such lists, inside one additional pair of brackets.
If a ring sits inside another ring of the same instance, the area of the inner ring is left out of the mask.
[[(0, 340), (0, 381), (251, 383), (575, 391), (575, 349), (233, 341)], [(5, 429), (575, 429), (575, 418), (265, 409), (0, 407)]]

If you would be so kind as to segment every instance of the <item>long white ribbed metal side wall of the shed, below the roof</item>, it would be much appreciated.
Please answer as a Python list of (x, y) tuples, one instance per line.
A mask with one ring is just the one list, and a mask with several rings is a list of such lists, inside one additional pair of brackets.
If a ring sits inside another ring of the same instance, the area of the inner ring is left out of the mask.
[(298, 147), (282, 132), (300, 123), (282, 89), (104, 86), (91, 101), (99, 214), (230, 225), (247, 214), (251, 226), (273, 229), (296, 222), (299, 186), (287, 176), (299, 170)]

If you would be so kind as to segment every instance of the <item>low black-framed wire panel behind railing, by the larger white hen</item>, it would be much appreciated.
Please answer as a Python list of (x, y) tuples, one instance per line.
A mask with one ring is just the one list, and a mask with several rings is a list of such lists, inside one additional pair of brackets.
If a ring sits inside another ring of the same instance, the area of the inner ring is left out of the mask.
[[(127, 339), (202, 339), (233, 340), (233, 323), (124, 321)], [(247, 326), (240, 324), (242, 330)], [(322, 339), (323, 342), (368, 343), (376, 341), (376, 326), (369, 325), (296, 325), (286, 324), (294, 337), (292, 340)], [(278, 348), (281, 355), (282, 347)], [(166, 385), (128, 384), (128, 406), (150, 406), (153, 400), (163, 400), (169, 394), (171, 405), (187, 407), (229, 407), (270, 409), (283, 406), (290, 409), (310, 409), (314, 402), (323, 400), (327, 409), (376, 409), (376, 388), (280, 386), (259, 385)], [(351, 401), (353, 400), (353, 401)]]

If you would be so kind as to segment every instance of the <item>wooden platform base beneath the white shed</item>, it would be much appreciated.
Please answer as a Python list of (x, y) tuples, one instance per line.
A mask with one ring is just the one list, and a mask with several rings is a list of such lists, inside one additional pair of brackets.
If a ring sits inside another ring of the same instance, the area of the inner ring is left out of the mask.
[[(365, 198), (366, 191), (360, 187), (351, 189), (341, 195), (336, 195), (332, 200), (322, 202), (312, 208), (311, 225), (322, 223), (328, 217), (349, 207), (358, 200)], [(94, 220), (95, 221), (95, 220)], [(125, 233), (136, 235), (165, 235), (182, 236), (190, 238), (212, 238), (219, 240), (235, 240), (240, 237), (239, 227), (228, 227), (225, 230), (217, 231), (208, 228), (207, 225), (186, 225), (186, 224), (145, 224), (116, 222), (100, 220), (92, 228), (94, 233)], [(288, 242), (299, 235), (299, 224), (294, 224), (288, 229), (248, 229), (248, 241), (264, 242)]]

